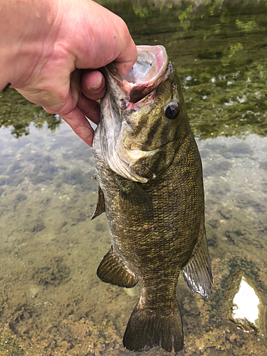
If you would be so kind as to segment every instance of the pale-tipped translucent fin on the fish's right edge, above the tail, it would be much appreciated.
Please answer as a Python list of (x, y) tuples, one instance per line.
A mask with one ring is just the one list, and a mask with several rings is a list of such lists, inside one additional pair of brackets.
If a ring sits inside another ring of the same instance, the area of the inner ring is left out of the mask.
[(183, 275), (189, 289), (199, 293), (204, 299), (209, 298), (212, 271), (205, 230), (194, 248), (192, 257), (183, 268)]

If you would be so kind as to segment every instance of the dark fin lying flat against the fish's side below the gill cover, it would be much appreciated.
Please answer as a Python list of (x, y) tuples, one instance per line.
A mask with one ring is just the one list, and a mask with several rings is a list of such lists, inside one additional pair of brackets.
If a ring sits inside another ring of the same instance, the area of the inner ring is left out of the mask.
[(127, 179), (117, 179), (117, 184), (120, 188), (120, 197), (123, 200), (122, 206), (125, 213), (135, 216), (135, 219), (151, 222), (153, 214), (153, 206), (147, 192), (140, 187), (136, 182)]

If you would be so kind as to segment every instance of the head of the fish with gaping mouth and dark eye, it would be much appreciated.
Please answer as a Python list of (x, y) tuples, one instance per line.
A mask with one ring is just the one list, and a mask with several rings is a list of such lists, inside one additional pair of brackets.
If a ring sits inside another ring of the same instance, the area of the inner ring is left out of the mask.
[(137, 46), (125, 78), (104, 68), (100, 147), (113, 172), (135, 182), (155, 179), (174, 159), (187, 118), (179, 80), (163, 46)]

